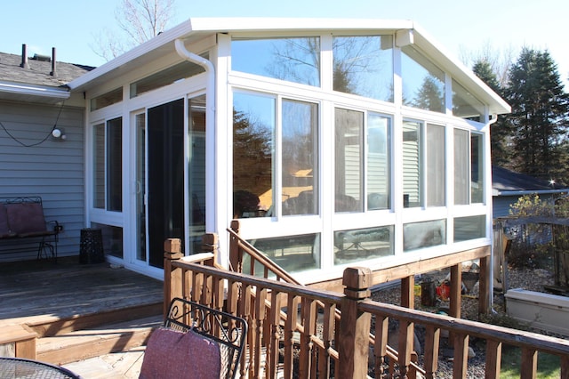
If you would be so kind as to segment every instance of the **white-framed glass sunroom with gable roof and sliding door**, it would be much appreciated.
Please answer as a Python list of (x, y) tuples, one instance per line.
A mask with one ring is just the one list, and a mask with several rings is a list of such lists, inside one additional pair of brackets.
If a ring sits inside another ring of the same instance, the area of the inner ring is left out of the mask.
[(235, 218), (305, 283), (489, 254), (509, 105), (412, 21), (192, 19), (68, 86), (110, 262), (160, 278), (215, 232), (227, 264)]

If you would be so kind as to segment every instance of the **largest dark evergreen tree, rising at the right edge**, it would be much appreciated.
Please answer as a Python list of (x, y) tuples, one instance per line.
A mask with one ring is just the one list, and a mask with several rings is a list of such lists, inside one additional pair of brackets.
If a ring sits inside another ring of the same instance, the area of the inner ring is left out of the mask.
[(510, 69), (505, 97), (512, 107), (512, 168), (564, 181), (569, 98), (549, 52), (522, 50)]

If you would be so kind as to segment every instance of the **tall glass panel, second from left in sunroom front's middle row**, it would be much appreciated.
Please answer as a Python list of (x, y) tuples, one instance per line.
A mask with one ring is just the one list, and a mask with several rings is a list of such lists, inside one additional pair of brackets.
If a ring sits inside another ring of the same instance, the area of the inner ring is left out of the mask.
[(318, 107), (283, 101), (283, 214), (318, 213)]

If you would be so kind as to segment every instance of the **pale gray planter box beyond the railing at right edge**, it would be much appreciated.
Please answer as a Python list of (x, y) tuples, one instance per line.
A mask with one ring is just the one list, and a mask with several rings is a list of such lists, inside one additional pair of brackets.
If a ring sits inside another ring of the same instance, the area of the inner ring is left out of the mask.
[(505, 296), (509, 317), (530, 327), (569, 336), (569, 297), (519, 288), (510, 289)]

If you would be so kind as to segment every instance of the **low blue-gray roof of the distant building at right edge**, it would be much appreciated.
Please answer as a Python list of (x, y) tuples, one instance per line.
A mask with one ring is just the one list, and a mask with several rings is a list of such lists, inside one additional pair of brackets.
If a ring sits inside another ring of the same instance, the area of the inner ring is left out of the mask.
[(546, 194), (567, 192), (567, 188), (555, 187), (549, 181), (534, 178), (524, 173), (516, 173), (507, 168), (492, 167), (493, 196), (519, 196), (525, 194)]

